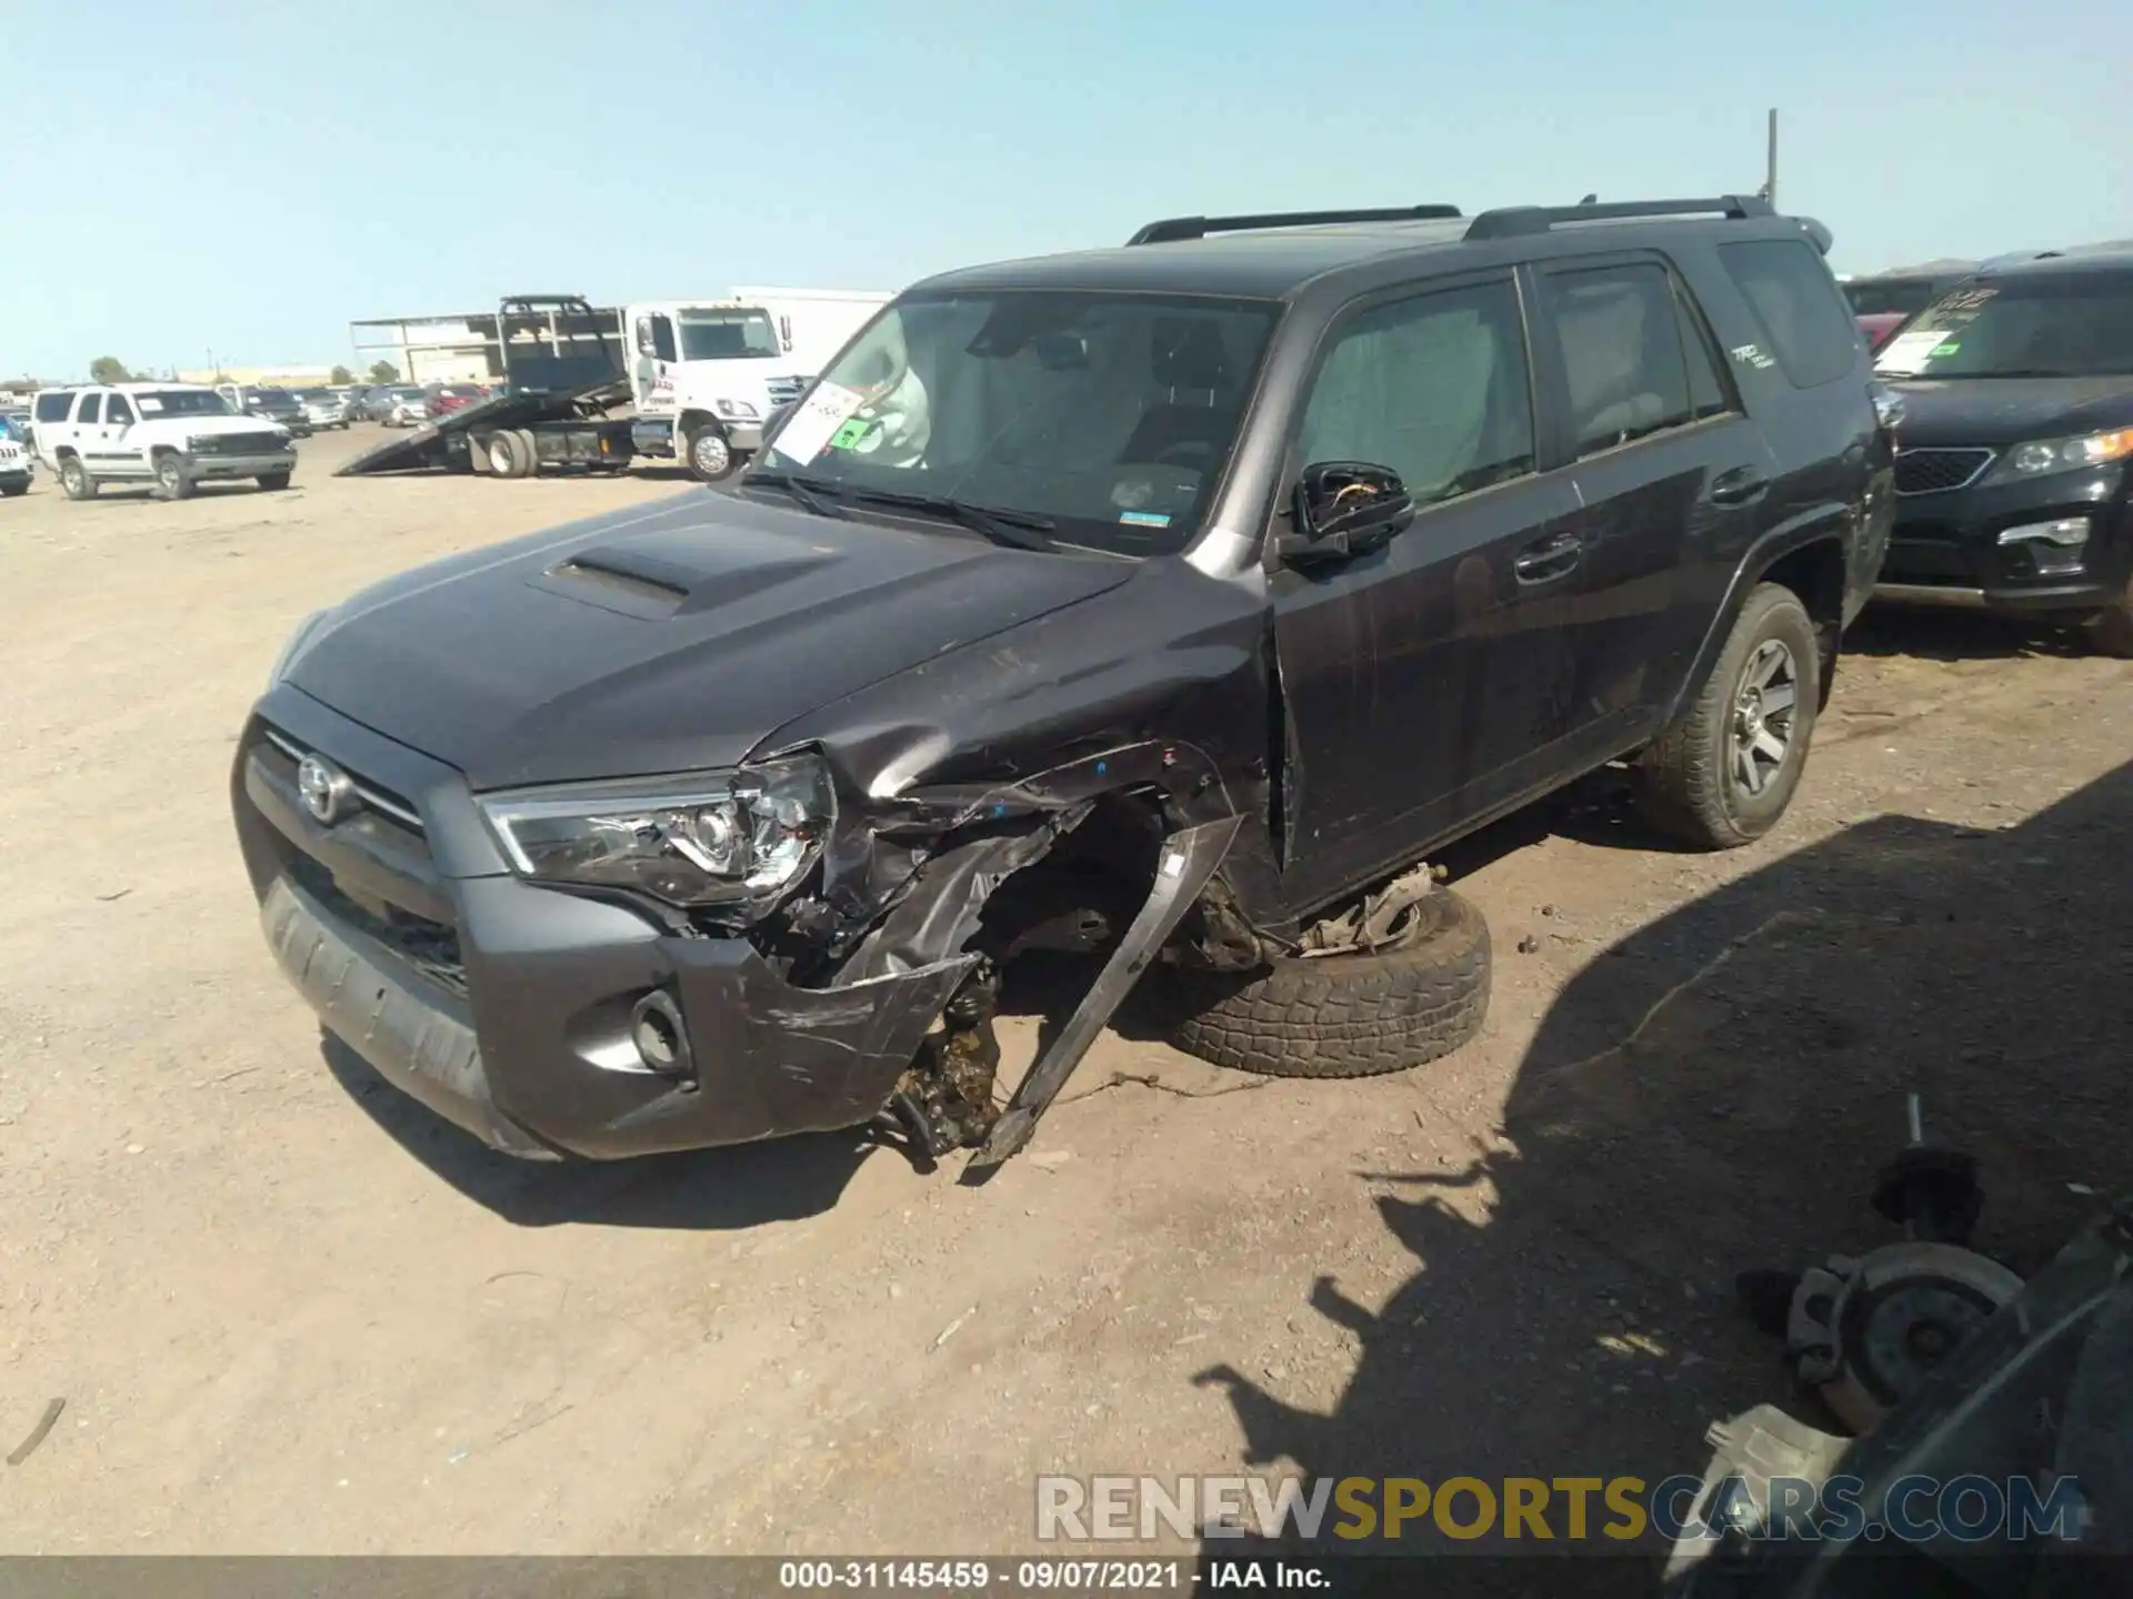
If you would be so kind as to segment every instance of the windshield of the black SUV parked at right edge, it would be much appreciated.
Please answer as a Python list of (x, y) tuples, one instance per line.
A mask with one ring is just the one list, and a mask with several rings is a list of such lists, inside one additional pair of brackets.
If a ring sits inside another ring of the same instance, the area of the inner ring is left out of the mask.
[(1875, 358), (1901, 377), (2133, 373), (2133, 273), (2007, 277), (1935, 301)]

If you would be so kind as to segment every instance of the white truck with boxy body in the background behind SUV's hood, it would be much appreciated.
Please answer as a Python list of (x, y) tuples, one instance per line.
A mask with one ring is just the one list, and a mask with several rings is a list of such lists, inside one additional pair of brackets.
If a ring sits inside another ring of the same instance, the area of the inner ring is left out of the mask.
[(894, 294), (736, 288), (717, 301), (644, 301), (623, 311), (640, 456), (687, 463), (702, 482), (732, 478), (764, 422), (800, 399)]

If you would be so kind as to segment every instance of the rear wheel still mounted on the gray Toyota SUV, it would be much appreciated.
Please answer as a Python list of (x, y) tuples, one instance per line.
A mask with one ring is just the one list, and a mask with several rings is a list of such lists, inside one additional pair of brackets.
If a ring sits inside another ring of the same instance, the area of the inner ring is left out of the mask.
[[(1785, 657), (1779, 676), (1790, 674), (1790, 706), (1775, 704), (1777, 678), (1760, 689), (1749, 682), (1766, 669), (1773, 650)], [(1777, 825), (1800, 787), (1819, 706), (1822, 655), (1807, 605), (1783, 584), (1755, 584), (1711, 678), (1636, 763), (1645, 819), (1698, 849), (1753, 844)], [(1743, 755), (1749, 729), (1768, 731), (1783, 746), (1781, 757), (1770, 757), (1760, 742)], [(1760, 787), (1751, 787), (1743, 761)]]

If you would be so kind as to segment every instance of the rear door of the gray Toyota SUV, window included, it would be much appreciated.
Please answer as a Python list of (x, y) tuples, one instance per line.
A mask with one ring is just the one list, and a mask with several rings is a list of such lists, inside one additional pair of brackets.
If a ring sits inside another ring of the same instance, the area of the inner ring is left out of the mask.
[(1570, 738), (1574, 759), (1595, 763), (1657, 729), (1777, 463), (1662, 256), (1570, 258), (1536, 277), (1540, 371), (1559, 397), (1585, 554)]

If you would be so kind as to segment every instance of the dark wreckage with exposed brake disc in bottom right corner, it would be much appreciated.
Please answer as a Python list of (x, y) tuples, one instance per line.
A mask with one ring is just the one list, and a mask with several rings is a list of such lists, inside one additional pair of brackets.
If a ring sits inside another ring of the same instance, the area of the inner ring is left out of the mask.
[[(1913, 1096), (1877, 1209), (1967, 1230), (1971, 1181), (1924, 1151)], [(1670, 1507), (1670, 1599), (2116, 1590), (2133, 1556), (2133, 1198), (2026, 1283), (1913, 1241), (1807, 1273), (1790, 1309), (1802, 1375), (1860, 1437), (1775, 1405), (1713, 1424), (1702, 1484)], [(1950, 1514), (1958, 1492), (1971, 1509)]]

